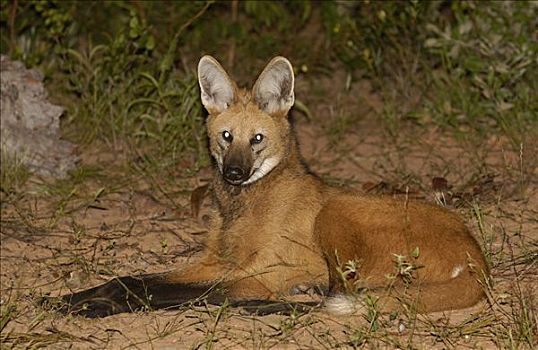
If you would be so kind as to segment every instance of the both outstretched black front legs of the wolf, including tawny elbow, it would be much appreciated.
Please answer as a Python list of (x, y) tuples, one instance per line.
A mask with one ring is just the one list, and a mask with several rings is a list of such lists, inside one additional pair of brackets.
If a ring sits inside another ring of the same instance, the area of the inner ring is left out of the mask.
[[(284, 278), (284, 275), (279, 276)], [(262, 314), (296, 309), (297, 303), (281, 302), (279, 296), (287, 291), (279, 290), (277, 281), (230, 268), (215, 259), (205, 259), (182, 270), (117, 277), (82, 292), (47, 300), (61, 304), (61, 312), (86, 317), (179, 307), (201, 299), (210, 304), (228, 300), (232, 306)]]

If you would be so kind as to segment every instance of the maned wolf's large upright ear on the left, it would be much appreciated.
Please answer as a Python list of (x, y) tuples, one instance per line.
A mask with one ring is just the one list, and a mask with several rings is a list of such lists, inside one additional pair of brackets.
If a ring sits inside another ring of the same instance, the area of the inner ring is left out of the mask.
[(235, 84), (220, 63), (211, 56), (204, 56), (198, 63), (198, 83), (202, 104), (210, 114), (221, 113), (235, 99)]

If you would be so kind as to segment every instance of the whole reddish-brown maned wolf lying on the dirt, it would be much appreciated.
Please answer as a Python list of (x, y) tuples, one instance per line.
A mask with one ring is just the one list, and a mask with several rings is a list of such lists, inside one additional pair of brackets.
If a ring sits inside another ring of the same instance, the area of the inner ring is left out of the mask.
[(361, 305), (350, 289), (367, 290), (386, 311), (404, 302), (418, 312), (457, 309), (483, 298), (488, 267), (457, 215), (331, 187), (307, 170), (287, 117), (295, 97), (286, 58), (271, 60), (251, 91), (211, 56), (200, 60), (198, 79), (215, 162), (203, 253), (175, 271), (56, 298), (63, 311), (101, 317), (200, 298), (289, 305), (287, 296), (308, 288), (328, 290), (325, 305), (337, 313)]

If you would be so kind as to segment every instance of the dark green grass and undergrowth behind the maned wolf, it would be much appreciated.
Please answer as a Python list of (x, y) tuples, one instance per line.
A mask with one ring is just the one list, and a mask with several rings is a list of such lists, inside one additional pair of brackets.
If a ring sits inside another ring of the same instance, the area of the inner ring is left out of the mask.
[[(383, 105), (373, 121), (394, 135), (410, 125), (478, 142), (500, 133), (515, 147), (537, 135), (538, 11), (526, 1), (1, 5), (1, 52), (45, 73), (52, 100), (67, 107), (65, 137), (160, 167), (208, 162), (195, 77), (203, 54), (242, 84), (272, 56), (288, 57), (309, 83), (296, 106), (307, 118), (330, 89), (319, 79), (345, 79), (348, 89), (367, 79)], [(351, 127), (340, 116), (327, 130)]]

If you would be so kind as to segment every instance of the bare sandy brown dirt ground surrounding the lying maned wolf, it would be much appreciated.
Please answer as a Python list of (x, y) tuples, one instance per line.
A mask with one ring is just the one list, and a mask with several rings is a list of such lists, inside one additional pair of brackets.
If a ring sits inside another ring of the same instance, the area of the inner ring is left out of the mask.
[[(508, 334), (514, 336), (521, 328), (518, 315), (538, 315), (536, 149), (530, 145), (519, 149), (498, 136), (471, 142), (439, 130), (413, 127), (391, 136), (372, 119), (372, 112), (382, 108), (375, 94), (368, 84), (358, 85), (359, 91), (335, 89), (341, 96), (332, 94), (327, 97), (332, 103), (319, 103), (311, 121), (295, 113), (307, 163), (331, 183), (345, 183), (361, 192), (444, 203), (461, 213), (492, 264), (493, 285), (487, 301), (471, 309), (416, 318), (383, 316), (378, 324), (369, 324), (364, 315), (335, 318), (312, 312), (260, 317), (215, 306), (85, 319), (38, 306), (37, 298), (45, 293), (80, 290), (113, 276), (171, 270), (197, 254), (205, 231), (190, 215), (188, 193), (178, 186), (177, 193), (170, 195), (175, 204), (171, 205), (141, 179), (118, 186), (91, 206), (73, 200), (62, 207), (43, 197), (2, 206), (2, 318), (8, 310), (11, 313), (2, 330), (2, 348), (510, 346)], [(359, 94), (362, 97), (355, 98)], [(363, 103), (366, 100), (369, 103)], [(337, 134), (335, 141), (327, 126), (330, 118), (342, 113), (360, 117)], [(85, 162), (103, 161), (95, 157), (95, 151), (86, 153), (82, 155)], [(187, 187), (203, 184), (207, 173), (186, 179)], [(439, 188), (434, 178), (446, 183)], [(92, 182), (84, 190), (95, 193), (101, 186)], [(63, 211), (61, 215), (58, 210)], [(515, 345), (525, 347), (524, 343)]]

